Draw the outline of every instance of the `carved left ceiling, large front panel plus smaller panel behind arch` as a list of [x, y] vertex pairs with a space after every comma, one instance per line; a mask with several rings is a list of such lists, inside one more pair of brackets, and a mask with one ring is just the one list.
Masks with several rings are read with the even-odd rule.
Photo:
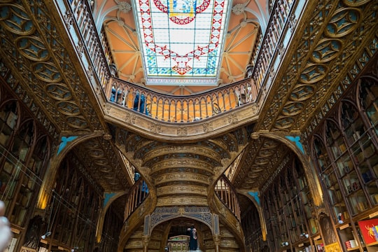
[[102, 190], [130, 188], [123, 160], [102, 137], [109, 130], [88, 85], [83, 85], [87, 80], [83, 80], [72, 45], [50, 19], [48, 6], [41, 1], [6, 1], [0, 8], [2, 76], [57, 145], [62, 141], [59, 137], [86, 138], [74, 151], [87, 161], [87, 174]]

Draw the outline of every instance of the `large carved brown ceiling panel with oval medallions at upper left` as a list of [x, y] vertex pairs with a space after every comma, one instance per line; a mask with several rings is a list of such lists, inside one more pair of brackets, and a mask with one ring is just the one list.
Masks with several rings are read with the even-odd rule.
[[43, 1], [3, 1], [0, 6], [3, 62], [49, 120], [62, 132], [102, 130], [83, 87], [84, 77]]

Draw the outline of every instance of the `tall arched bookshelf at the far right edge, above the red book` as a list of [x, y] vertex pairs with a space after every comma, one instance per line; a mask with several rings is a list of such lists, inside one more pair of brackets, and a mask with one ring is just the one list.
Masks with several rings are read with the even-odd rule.
[[343, 251], [365, 251], [356, 223], [378, 207], [377, 126], [378, 83], [361, 81], [330, 111], [311, 139], [325, 204]]

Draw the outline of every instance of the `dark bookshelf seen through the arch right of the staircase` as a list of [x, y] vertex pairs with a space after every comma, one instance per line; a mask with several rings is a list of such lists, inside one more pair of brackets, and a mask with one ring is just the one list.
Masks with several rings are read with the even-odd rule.
[[[311, 247], [311, 236], [319, 234], [318, 223], [313, 216], [309, 183], [297, 158], [262, 192], [262, 204], [267, 232], [271, 234], [267, 240], [274, 251], [284, 251], [290, 246], [295, 246], [295, 251], [306, 251]], [[283, 246], [283, 242], [288, 245]]]

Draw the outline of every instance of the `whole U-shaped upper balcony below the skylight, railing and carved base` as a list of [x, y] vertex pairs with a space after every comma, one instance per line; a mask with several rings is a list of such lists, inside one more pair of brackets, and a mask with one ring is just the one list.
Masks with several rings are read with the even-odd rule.
[[[190, 95], [163, 94], [117, 78], [109, 47], [97, 31], [90, 3], [71, 0], [55, 4], [108, 120], [167, 139], [177, 135], [196, 139], [202, 134], [228, 130], [228, 125], [235, 127], [258, 118], [293, 35], [295, 24], [290, 16], [299, 17], [304, 8], [300, 2], [278, 0], [270, 6], [265, 35], [261, 35], [260, 29], [244, 79]], [[238, 6], [232, 9], [238, 10], [245, 11]], [[204, 124], [204, 130], [191, 128], [190, 125], [198, 123]], [[172, 131], [174, 128], [176, 131]]]

